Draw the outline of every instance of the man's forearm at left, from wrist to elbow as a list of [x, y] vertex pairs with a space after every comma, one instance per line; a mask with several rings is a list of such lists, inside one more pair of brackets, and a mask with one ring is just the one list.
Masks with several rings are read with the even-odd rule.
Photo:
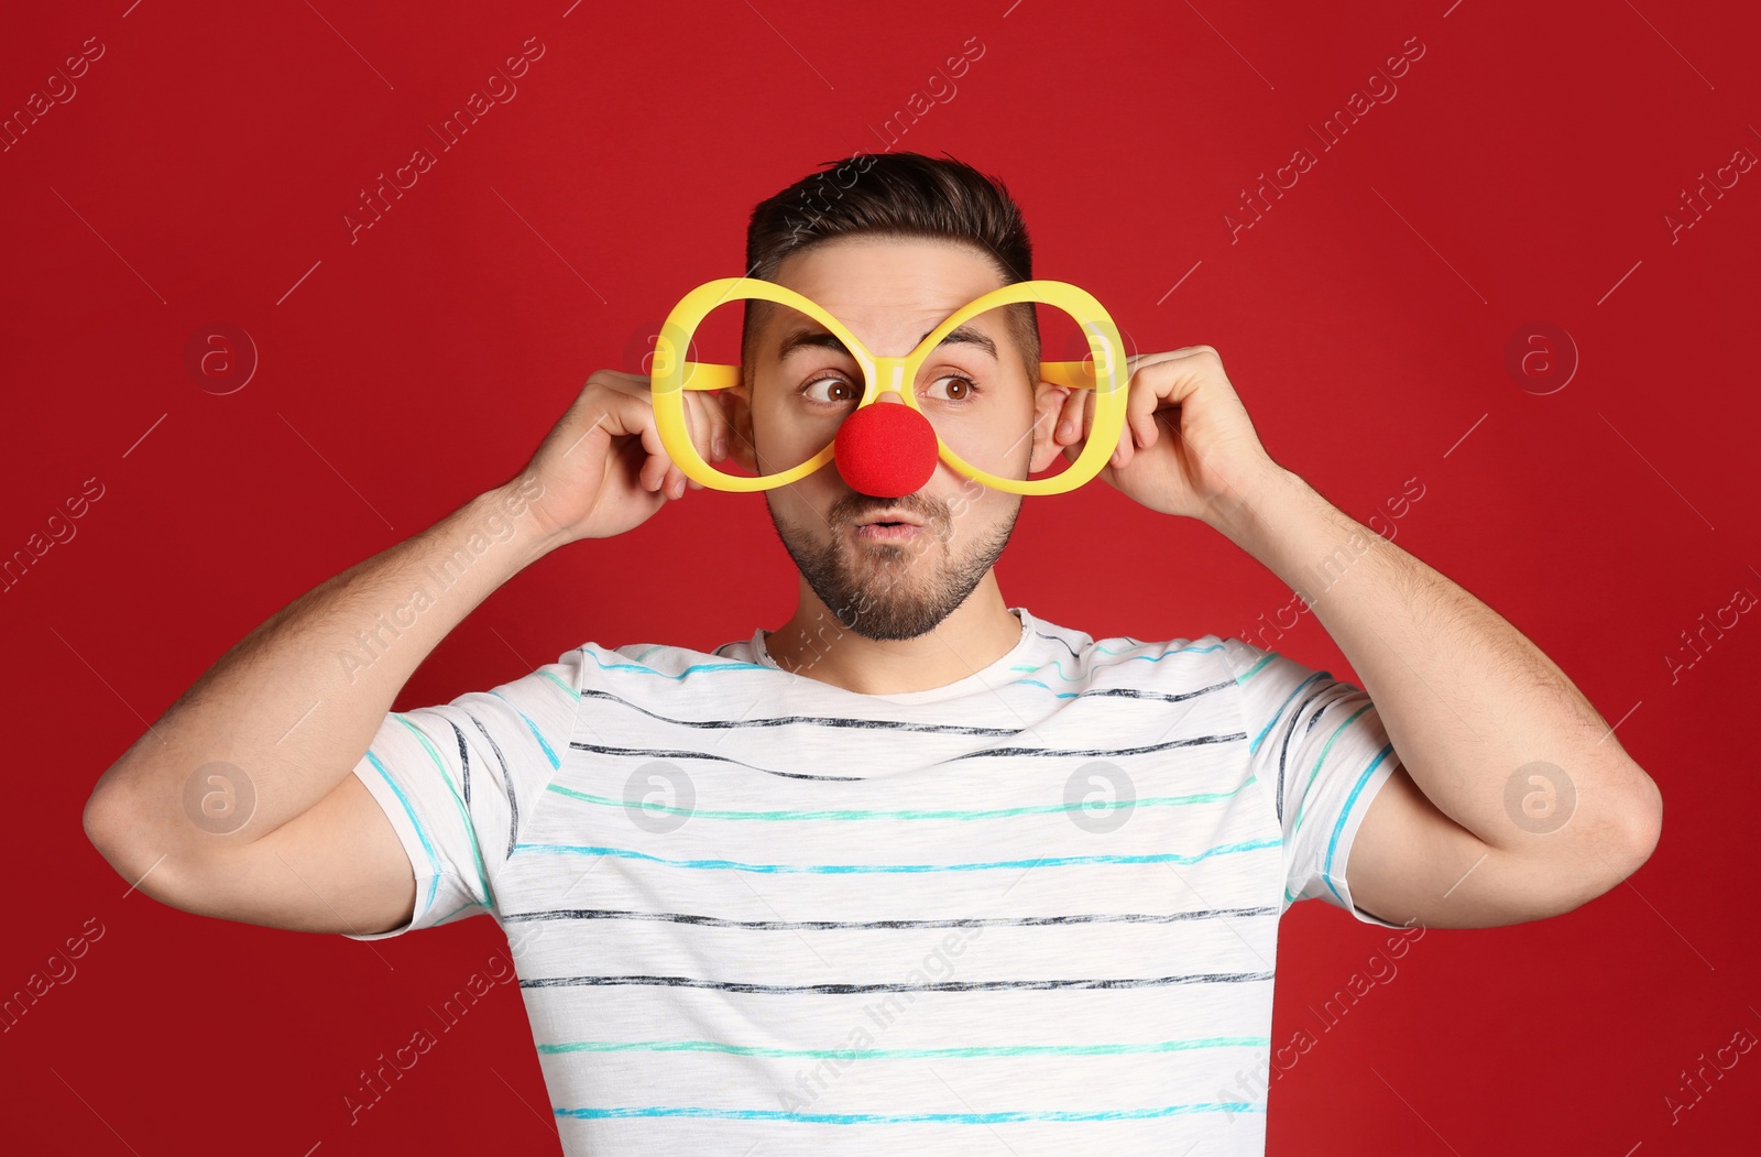
[[185, 785], [215, 761], [248, 777], [255, 796], [234, 847], [313, 807], [435, 645], [548, 549], [535, 491], [514, 479], [276, 611], [104, 773], [88, 815], [107, 812], [155, 849], [195, 849]]

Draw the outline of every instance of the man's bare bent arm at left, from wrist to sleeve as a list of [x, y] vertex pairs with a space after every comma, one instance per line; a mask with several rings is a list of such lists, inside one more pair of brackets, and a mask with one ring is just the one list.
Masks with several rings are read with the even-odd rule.
[[[528, 497], [516, 479], [474, 498], [306, 592], [210, 667], [86, 801], [86, 835], [116, 872], [203, 916], [349, 933], [407, 923], [409, 856], [352, 770], [435, 645], [549, 549]], [[435, 586], [426, 576], [458, 572], [454, 556], [472, 562], [412, 611], [412, 592]]]

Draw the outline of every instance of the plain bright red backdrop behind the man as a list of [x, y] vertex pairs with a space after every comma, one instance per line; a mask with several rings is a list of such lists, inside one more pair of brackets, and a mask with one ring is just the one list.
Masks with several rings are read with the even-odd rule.
[[[361, 1124], [343, 1111], [359, 1069], [505, 951], [493, 921], [370, 947], [187, 916], [123, 895], [81, 807], [269, 613], [511, 475], [592, 370], [636, 370], [683, 289], [741, 271], [755, 201], [880, 150], [873, 129], [970, 37], [983, 56], [896, 148], [1000, 174], [1037, 275], [1092, 291], [1138, 349], [1215, 345], [1271, 454], [1344, 511], [1368, 521], [1418, 479], [1423, 498], [1377, 528], [1551, 655], [1664, 792], [1629, 884], [1550, 921], [1432, 930], [1331, 1030], [1308, 1006], [1386, 933], [1294, 909], [1273, 1043], [1319, 1044], [1273, 1083], [1270, 1152], [1752, 1152], [1761, 1051], [1680, 1124], [1664, 1106], [1701, 1051], [1761, 1035], [1754, 905], [1733, 903], [1752, 891], [1736, 849], [1761, 625], [1675, 682], [1664, 659], [1701, 613], [1761, 593], [1738, 345], [1761, 298], [1761, 171], [1675, 238], [1664, 222], [1684, 185], [1761, 150], [1747, 5], [125, 9], [35, 5], [0, 37], [5, 109], [104, 44], [0, 153], [0, 551], [104, 486], [0, 595], [0, 988], [83, 921], [104, 928], [0, 1035], [19, 1152], [555, 1152], [507, 984]], [[350, 243], [361, 187], [528, 37], [544, 55], [518, 97]], [[1425, 53], [1398, 95], [1321, 151], [1308, 127], [1409, 37]], [[1303, 144], [1317, 164], [1231, 240], [1243, 185]], [[185, 370], [217, 321], [259, 352], [229, 394]], [[1536, 321], [1574, 338], [1560, 389], [1564, 365], [1529, 387], [1506, 368]], [[398, 706], [588, 639], [708, 648], [778, 627], [794, 571], [761, 502], [703, 491], [544, 558]], [[1247, 636], [1291, 599], [1219, 534], [1102, 483], [1028, 500], [998, 578], [1097, 637]], [[1277, 646], [1349, 674], [1308, 615]]]

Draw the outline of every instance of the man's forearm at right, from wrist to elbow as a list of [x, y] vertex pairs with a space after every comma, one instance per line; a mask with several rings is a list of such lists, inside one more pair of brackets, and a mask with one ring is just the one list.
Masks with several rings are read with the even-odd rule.
[[1314, 609], [1375, 703], [1412, 782], [1490, 847], [1529, 829], [1506, 807], [1522, 768], [1560, 768], [1587, 859], [1655, 815], [1657, 787], [1541, 648], [1485, 602], [1359, 525], [1280, 467], [1212, 525]]

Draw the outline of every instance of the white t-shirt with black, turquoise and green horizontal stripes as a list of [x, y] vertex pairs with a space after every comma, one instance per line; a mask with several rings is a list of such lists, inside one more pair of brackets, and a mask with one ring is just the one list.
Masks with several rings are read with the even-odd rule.
[[387, 715], [356, 775], [417, 896], [380, 935], [500, 921], [572, 1153], [1263, 1153], [1278, 916], [1396, 926], [1345, 884], [1375, 706], [1011, 611], [933, 690], [755, 630]]

